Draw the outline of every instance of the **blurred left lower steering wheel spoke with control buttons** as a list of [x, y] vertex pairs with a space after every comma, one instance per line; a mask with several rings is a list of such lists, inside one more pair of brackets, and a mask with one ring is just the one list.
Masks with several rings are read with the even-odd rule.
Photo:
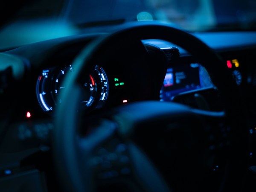
[[115, 122], [102, 119], [89, 134], [79, 137], [79, 161], [84, 179], [90, 177], [93, 182], [92, 190], [168, 192], [148, 157], [117, 129]]

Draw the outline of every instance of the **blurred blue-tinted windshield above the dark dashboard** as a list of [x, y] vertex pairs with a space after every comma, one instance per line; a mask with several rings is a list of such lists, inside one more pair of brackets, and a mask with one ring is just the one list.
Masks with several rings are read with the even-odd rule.
[[0, 49], [143, 20], [166, 21], [191, 32], [254, 30], [256, 0], [29, 1], [2, 26]]

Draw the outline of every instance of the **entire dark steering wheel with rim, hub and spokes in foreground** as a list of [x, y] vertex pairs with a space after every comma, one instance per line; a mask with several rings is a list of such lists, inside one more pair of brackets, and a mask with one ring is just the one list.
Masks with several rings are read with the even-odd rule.
[[[104, 52], [110, 46], [127, 39], [162, 39], [186, 49], [207, 69], [221, 94], [224, 111], [203, 111], [155, 99], [117, 106], [90, 118], [82, 116], [77, 111], [81, 79], [97, 58], [108, 56]], [[166, 23], [126, 23], [88, 44], [73, 64], [77, 70], [64, 80], [67, 88], [62, 93], [63, 100], [69, 102], [57, 108], [52, 137], [56, 170], [64, 190], [242, 189], [247, 122], [239, 90], [224, 61], [198, 38]], [[82, 127], [81, 122], [93, 123]], [[81, 134], [86, 126], [93, 127], [92, 131]]]

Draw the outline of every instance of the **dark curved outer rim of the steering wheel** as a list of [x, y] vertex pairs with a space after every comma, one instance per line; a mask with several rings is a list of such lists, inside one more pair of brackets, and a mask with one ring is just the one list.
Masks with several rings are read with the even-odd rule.
[[[195, 36], [180, 29], [173, 28], [166, 23], [160, 22], [126, 23], [125, 25], [114, 29], [112, 33], [97, 38], [90, 45], [85, 47], [73, 62], [73, 64], [75, 64], [77, 67], [76, 72], [72, 73], [70, 76], [67, 76], [64, 81], [64, 83], [67, 84], [67, 87], [69, 88], [63, 92], [63, 98], [66, 98], [70, 101], [79, 98], [80, 91], [76, 84], [78, 84], [79, 79], [84, 76], [84, 73], [82, 72], [89, 71], [89, 68], [91, 67], [90, 63], [93, 63], [93, 59], [100, 52], [102, 52], [102, 49], [108, 47], [108, 44], [110, 44], [113, 39], [122, 39], [124, 37], [132, 37], [140, 40], [162, 39], [172, 42], [173, 44], [176, 44], [183, 49], [186, 49], [189, 53], [194, 55], [198, 59], [198, 62], [207, 69], [213, 84], [215, 84], [215, 86], [220, 91], [223, 101], [226, 104], [224, 106], [226, 119], [228, 119], [229, 122], [231, 122], [230, 119], [233, 118], [238, 120], [238, 122], [236, 121], [236, 127], [244, 125], [245, 118], [241, 116], [242, 105], [239, 95], [233, 95], [234, 91], [239, 93], [238, 87], [236, 86], [236, 82], [232, 78], [231, 74], [227, 72], [224, 61], [222, 61], [222, 59], [215, 52], [213, 52], [212, 49], [210, 49], [206, 44], [204, 44]], [[210, 60], [207, 58], [210, 58]], [[71, 92], [72, 94], [70, 94]], [[237, 105], [237, 111], [231, 110], [231, 106], [234, 105]], [[79, 152], [74, 146], [74, 143], [77, 142], [77, 128], [79, 127], [77, 123], [77, 115], [74, 113], [76, 109], [76, 102], [69, 102], [69, 104], [64, 104], [57, 108], [55, 121], [56, 127], [53, 132], [53, 146], [55, 151], [54, 157], [55, 162], [63, 160], [64, 165], [67, 166], [65, 168], [67, 170], [63, 170], [63, 166], [61, 166], [63, 171], [61, 175], [65, 175], [62, 177], [62, 181], [67, 182], [67, 180], [70, 180], [70, 182], [67, 182], [68, 184], [65, 187], [70, 187], [71, 190], [75, 188], [76, 191], [86, 191], [84, 188], [86, 184], [81, 185], [81, 183], [87, 183], [87, 185], [90, 186], [89, 183], [93, 182], [91, 180], [92, 178], [81, 178], [79, 175], [77, 175], [77, 173], [80, 172], [79, 166], [72, 165], [72, 162], [80, 162], [76, 159], [76, 153]], [[68, 113], [67, 111], [73, 111], [73, 113]], [[201, 111], [201, 113], [204, 112]], [[220, 115], [220, 113], [218, 115]], [[244, 130], [239, 129], [239, 131]], [[60, 172], [61, 168], [59, 166], [57, 167], [58, 172]], [[71, 174], [73, 178], [70, 179], [70, 177], [67, 176], [67, 173]], [[84, 178], [86, 178], [87, 181], [84, 181]], [[93, 188], [90, 187], [89, 189], [93, 190]]]

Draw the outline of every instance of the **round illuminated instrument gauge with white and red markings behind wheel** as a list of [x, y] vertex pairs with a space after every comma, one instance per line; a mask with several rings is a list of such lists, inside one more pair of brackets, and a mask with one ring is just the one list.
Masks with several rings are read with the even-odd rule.
[[[64, 78], [68, 73], [76, 70], [76, 66], [69, 65], [67, 67], [55, 70], [44, 70], [42, 76], [38, 78], [38, 101], [44, 111], [51, 111], [56, 105], [65, 102], [61, 98], [61, 92], [67, 88], [63, 84]], [[51, 78], [49, 78], [51, 73]], [[95, 101], [96, 107], [101, 107], [108, 97], [108, 79], [101, 67], [95, 67], [87, 78], [82, 82], [83, 96], [79, 108], [89, 108]]]

